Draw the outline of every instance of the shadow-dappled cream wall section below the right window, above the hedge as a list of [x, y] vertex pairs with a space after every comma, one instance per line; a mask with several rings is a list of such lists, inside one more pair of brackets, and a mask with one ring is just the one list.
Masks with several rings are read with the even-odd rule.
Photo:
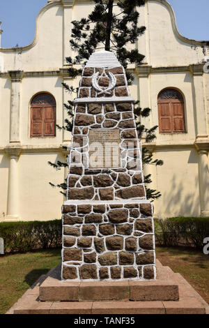
[[157, 150], [154, 158], [164, 161], [153, 171], [162, 197], [155, 200], [155, 217], [199, 216], [199, 156], [194, 148]]

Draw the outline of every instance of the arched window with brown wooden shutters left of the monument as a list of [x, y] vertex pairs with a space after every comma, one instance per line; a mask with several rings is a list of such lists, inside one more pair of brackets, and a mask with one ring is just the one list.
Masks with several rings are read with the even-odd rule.
[[50, 94], [38, 94], [31, 101], [31, 137], [56, 136], [56, 101]]

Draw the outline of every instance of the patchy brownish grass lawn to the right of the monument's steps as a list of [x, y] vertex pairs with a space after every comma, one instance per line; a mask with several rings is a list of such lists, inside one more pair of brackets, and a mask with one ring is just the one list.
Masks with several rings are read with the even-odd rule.
[[156, 248], [157, 259], [181, 274], [209, 304], [209, 255], [188, 248]]

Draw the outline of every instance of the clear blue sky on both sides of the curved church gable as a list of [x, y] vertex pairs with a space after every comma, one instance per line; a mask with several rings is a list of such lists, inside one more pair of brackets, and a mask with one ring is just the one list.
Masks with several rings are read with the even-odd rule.
[[[169, 3], [183, 36], [209, 40], [208, 0], [169, 0]], [[1, 47], [29, 45], [35, 35], [36, 17], [46, 4], [47, 0], [0, 0]]]

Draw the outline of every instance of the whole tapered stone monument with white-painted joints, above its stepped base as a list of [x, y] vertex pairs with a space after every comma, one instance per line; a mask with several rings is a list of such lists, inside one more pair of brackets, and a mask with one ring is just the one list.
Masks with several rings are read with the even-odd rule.
[[156, 278], [153, 206], [146, 200], [133, 111], [114, 53], [92, 54], [75, 100], [62, 209], [63, 280]]

